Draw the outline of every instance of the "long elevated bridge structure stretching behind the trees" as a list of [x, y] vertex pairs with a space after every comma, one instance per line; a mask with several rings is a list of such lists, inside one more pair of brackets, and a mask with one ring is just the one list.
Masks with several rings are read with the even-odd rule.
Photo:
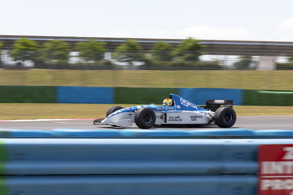
[[[50, 37], [50, 36], [22, 36], [22, 35], [0, 35], [0, 42], [4, 44], [6, 50], [11, 50], [12, 44], [17, 39], [27, 38], [38, 44], [43, 44], [48, 40], [58, 39], [74, 45], [77, 42], [88, 41], [90, 39], [99, 40], [107, 43], [107, 49], [111, 52], [125, 42], [126, 40], [134, 40], [142, 50], [147, 52], [152, 46], [163, 41], [176, 47], [185, 39], [140, 39], [140, 38], [106, 38], [106, 37]], [[235, 56], [293, 56], [293, 42], [276, 42], [276, 41], [229, 41], [229, 40], [199, 40], [205, 45], [202, 50], [207, 55], [235, 55]]]

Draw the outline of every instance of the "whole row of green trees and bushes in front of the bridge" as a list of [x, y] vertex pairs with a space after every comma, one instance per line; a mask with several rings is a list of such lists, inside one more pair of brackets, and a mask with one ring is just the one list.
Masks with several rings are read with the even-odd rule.
[[[158, 41], [147, 53], [142, 52], [142, 46], [134, 40], [125, 40], [114, 49], [110, 58], [105, 58], [108, 51], [106, 44], [94, 39], [77, 42], [74, 46], [58, 39], [38, 44], [33, 40], [20, 38], [12, 45], [10, 55], [15, 61], [34, 61], [35, 68], [115, 69], [118, 67], [113, 63], [115, 61], [128, 66], [141, 62], [142, 69], [224, 69], [218, 59], [200, 61], [199, 57], [205, 54], [202, 51], [205, 46], [191, 37], [183, 40], [176, 48], [167, 42]], [[0, 49], [2, 47], [3, 43], [0, 42]], [[69, 64], [72, 51], [78, 52], [79, 62], [76, 64]], [[289, 61], [292, 62], [293, 58], [289, 58]], [[240, 70], [251, 69], [252, 56], [241, 56], [240, 61], [233, 66]]]

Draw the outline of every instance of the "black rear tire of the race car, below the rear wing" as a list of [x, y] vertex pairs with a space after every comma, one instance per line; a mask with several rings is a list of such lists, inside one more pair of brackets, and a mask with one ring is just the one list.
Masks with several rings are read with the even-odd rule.
[[236, 113], [230, 107], [220, 107], [215, 111], [214, 120], [219, 127], [229, 128], [236, 122]]

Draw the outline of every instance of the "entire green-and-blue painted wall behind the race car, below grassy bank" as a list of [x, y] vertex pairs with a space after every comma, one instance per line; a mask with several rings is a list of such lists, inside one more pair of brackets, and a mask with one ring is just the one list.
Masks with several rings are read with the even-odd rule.
[[[52, 87], [0, 86], [2, 103], [97, 103], [97, 104], [159, 104], [168, 94], [177, 94], [197, 105], [207, 99], [233, 100], [234, 105], [290, 106], [293, 91], [263, 91], [217, 88], [131, 88], [131, 87]], [[15, 89], [18, 90], [15, 90]], [[33, 93], [29, 93], [33, 90]], [[19, 91], [23, 91], [20, 96]], [[178, 92], [178, 93], [177, 93]], [[45, 94], [45, 95], [44, 95]], [[25, 97], [25, 100], [23, 100]], [[159, 99], [158, 99], [159, 97]], [[161, 98], [160, 98], [161, 97]], [[273, 101], [272, 101], [273, 99]]]

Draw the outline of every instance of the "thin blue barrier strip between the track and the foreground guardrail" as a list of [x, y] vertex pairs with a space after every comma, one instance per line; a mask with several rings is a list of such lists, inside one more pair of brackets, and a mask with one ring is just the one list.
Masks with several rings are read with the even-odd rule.
[[179, 139], [293, 139], [293, 130], [250, 130], [250, 129], [52, 129], [21, 130], [0, 129], [0, 138], [179, 138]]

